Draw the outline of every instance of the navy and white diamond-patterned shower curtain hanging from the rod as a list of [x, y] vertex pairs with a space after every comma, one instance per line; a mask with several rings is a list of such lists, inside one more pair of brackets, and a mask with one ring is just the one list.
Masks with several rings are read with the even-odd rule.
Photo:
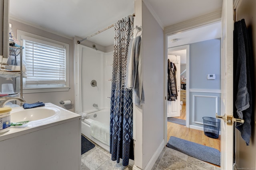
[[126, 64], [133, 17], [116, 22], [110, 104], [110, 153], [112, 160], [127, 166], [133, 158], [132, 90], [125, 88]]

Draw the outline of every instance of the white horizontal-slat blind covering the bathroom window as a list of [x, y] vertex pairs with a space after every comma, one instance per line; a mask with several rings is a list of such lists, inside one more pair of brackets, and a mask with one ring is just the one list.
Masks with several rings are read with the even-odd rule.
[[66, 86], [65, 47], [48, 44], [23, 39], [27, 70], [25, 89]]

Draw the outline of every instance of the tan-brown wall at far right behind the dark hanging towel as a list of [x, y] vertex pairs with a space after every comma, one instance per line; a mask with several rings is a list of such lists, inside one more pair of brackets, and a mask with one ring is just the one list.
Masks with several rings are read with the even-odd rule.
[[[242, 20], [243, 18], [245, 19], [246, 26], [249, 30], [249, 37], [252, 39], [252, 49], [253, 49], [253, 54], [254, 54], [254, 67], [256, 66], [256, 11], [255, 11], [255, 6], [256, 6], [256, 1], [255, 0], [240, 0], [238, 3], [238, 6], [236, 8], [236, 20]], [[256, 75], [256, 71], [254, 68], [254, 75]], [[251, 80], [254, 84], [254, 80]], [[253, 96], [256, 95], [256, 91], [253, 90], [254, 94]], [[254, 97], [255, 98], [255, 97]], [[246, 146], [246, 143], [244, 140], [242, 140], [240, 132], [236, 130], [236, 146], [237, 146], [237, 151], [236, 151], [236, 164], [237, 167], [240, 169], [255, 169], [256, 164], [256, 126], [255, 126], [255, 117], [256, 117], [256, 101], [254, 100], [254, 110], [252, 112], [252, 136], [250, 140], [250, 145]]]

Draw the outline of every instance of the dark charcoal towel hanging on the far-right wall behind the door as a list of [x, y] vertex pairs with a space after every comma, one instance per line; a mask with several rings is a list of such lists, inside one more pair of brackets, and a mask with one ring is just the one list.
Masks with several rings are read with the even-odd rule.
[[250, 143], [252, 116], [252, 51], [244, 19], [234, 23], [234, 117], [244, 119], [236, 123], [246, 145]]

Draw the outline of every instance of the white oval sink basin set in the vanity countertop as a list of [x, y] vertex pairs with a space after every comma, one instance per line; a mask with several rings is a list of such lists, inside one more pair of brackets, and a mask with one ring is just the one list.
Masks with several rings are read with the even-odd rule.
[[21, 109], [17, 111], [11, 111], [11, 122], [20, 121], [36, 121], [52, 117], [59, 112], [55, 108], [32, 108], [32, 109]]

